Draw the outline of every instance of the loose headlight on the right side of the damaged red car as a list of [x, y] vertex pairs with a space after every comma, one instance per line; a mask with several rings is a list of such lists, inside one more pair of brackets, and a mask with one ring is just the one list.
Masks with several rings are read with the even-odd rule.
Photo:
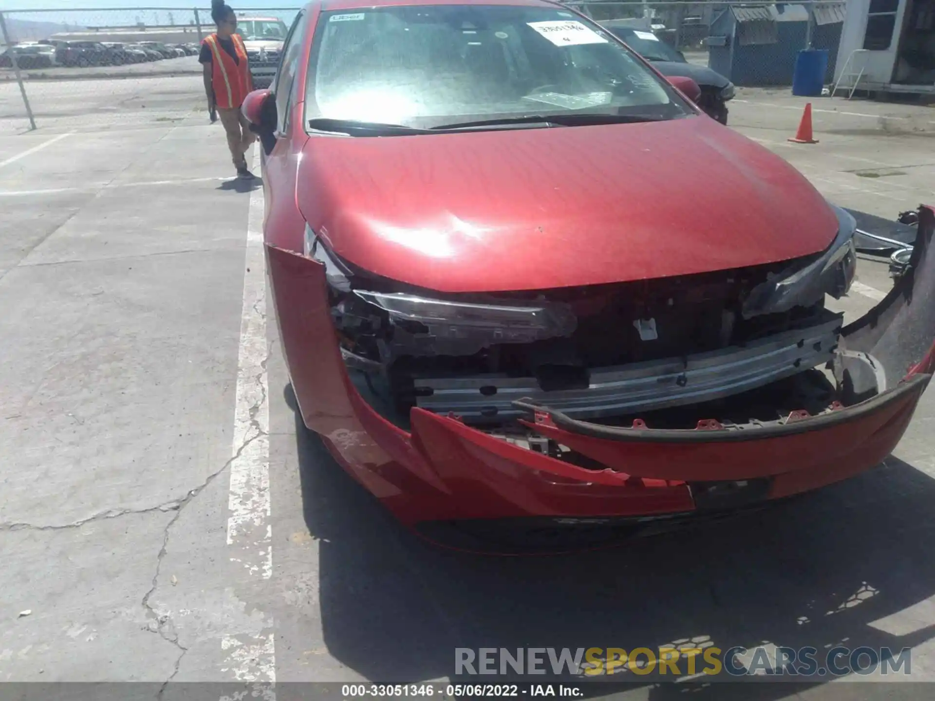
[[826, 293], [839, 298], [850, 289], [857, 265], [857, 223], [841, 207], [831, 207], [838, 217], [838, 235], [831, 245], [811, 263], [791, 265], [751, 290], [741, 310], [745, 319], [808, 307]]

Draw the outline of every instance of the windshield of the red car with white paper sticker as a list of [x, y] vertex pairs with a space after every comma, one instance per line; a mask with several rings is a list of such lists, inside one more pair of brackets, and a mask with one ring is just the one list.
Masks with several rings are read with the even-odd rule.
[[552, 7], [324, 12], [311, 62], [306, 116], [319, 123], [427, 129], [533, 116], [639, 121], [691, 113], [600, 27]]

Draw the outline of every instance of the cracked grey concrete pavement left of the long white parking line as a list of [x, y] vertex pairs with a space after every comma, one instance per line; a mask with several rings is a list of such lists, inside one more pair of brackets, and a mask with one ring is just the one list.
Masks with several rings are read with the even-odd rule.
[[[0, 680], [148, 680], [161, 696], [186, 670], [217, 679], [222, 638], [266, 620], [230, 588], [218, 479], [259, 436], [232, 451], [247, 200], [218, 192], [209, 126], [61, 143], [0, 170], [7, 192], [100, 183], [0, 215], [20, 229], [0, 236], [0, 583], [33, 610], [0, 624]], [[202, 551], [180, 563], [192, 538]], [[71, 577], [27, 565], [47, 557]]]

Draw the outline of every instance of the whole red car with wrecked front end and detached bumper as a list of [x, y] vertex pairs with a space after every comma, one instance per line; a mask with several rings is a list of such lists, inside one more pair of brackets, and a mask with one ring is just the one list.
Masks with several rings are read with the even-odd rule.
[[935, 215], [842, 326], [854, 220], [692, 94], [545, 0], [298, 15], [244, 105], [282, 346], [305, 424], [423, 536], [626, 532], [896, 446], [933, 366]]

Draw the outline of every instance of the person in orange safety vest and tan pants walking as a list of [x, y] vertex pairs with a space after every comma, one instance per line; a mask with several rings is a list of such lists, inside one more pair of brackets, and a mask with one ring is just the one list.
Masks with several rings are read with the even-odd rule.
[[214, 121], [214, 110], [221, 118], [227, 133], [227, 146], [240, 178], [253, 178], [247, 167], [246, 152], [255, 136], [250, 122], [240, 113], [247, 94], [253, 89], [250, 75], [250, 59], [243, 37], [237, 34], [237, 15], [223, 0], [211, 0], [211, 19], [218, 31], [201, 42], [198, 61], [203, 65], [205, 93], [208, 108]]

